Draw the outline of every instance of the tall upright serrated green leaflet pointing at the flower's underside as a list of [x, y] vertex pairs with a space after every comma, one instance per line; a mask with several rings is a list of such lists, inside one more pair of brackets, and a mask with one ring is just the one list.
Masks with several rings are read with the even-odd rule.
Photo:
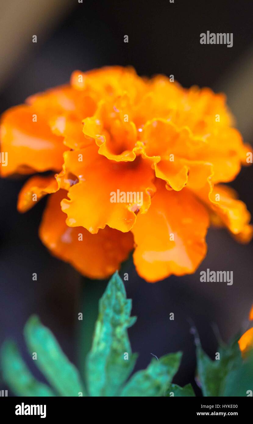
[[126, 298], [124, 284], [116, 272], [99, 301], [92, 349], [87, 355], [90, 396], [116, 396], [133, 370], [137, 356], [132, 354], [127, 332], [136, 321], [130, 316], [131, 307], [132, 301]]

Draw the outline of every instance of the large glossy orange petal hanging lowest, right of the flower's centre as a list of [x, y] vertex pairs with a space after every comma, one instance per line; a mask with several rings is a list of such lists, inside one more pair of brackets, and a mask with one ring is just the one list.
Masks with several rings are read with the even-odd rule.
[[150, 209], [132, 229], [136, 270], [149, 282], [195, 272], [206, 255], [209, 226], [208, 212], [189, 190], [168, 191], [159, 180], [156, 185]]

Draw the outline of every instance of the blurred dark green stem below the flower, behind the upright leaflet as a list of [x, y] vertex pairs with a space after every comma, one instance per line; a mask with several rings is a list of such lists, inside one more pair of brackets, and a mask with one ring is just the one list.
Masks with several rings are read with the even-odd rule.
[[90, 280], [81, 277], [80, 310], [83, 319], [78, 321], [78, 365], [85, 376], [85, 360], [92, 347], [92, 338], [98, 315], [98, 301], [106, 290], [108, 280]]

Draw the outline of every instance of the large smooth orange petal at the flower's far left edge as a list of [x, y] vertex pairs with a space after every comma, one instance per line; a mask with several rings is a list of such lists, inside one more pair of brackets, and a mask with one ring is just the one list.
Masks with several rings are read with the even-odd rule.
[[61, 169], [67, 148], [62, 137], [50, 131], [43, 116], [33, 106], [15, 106], [5, 112], [1, 121], [1, 151], [8, 152], [8, 165], [0, 167], [1, 175], [31, 174], [34, 171]]

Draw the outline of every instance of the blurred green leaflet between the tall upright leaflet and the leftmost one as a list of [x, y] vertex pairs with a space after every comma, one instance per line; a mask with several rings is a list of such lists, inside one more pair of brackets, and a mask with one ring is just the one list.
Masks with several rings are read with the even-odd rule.
[[31, 316], [24, 329], [31, 354], [36, 352], [36, 365], [61, 396], [85, 396], [79, 372], [61, 350], [53, 333], [39, 318]]

